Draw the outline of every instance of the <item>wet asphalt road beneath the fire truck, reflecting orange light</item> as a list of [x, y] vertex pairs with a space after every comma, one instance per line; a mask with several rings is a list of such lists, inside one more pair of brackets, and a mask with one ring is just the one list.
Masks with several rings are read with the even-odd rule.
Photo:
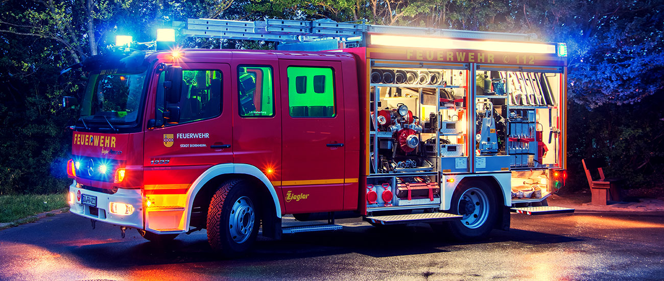
[[[286, 220], [292, 220], [292, 218]], [[0, 231], [2, 280], [663, 280], [664, 213], [512, 215], [513, 229], [458, 243], [428, 225], [260, 238], [247, 256], [210, 252], [205, 231], [172, 244], [70, 213]]]

